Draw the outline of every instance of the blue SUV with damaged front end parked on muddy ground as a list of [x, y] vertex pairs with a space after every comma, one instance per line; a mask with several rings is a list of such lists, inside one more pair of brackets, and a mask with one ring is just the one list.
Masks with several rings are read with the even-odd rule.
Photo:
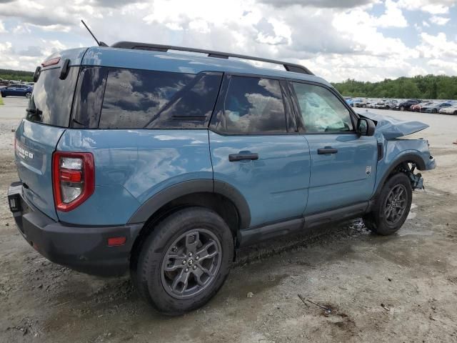
[[393, 234], [415, 169], [435, 166], [426, 140], [398, 139], [425, 124], [356, 114], [296, 64], [120, 42], [54, 54], [34, 79], [8, 193], [19, 231], [52, 262], [130, 271], [165, 314], [208, 302], [238, 247], [354, 217]]

